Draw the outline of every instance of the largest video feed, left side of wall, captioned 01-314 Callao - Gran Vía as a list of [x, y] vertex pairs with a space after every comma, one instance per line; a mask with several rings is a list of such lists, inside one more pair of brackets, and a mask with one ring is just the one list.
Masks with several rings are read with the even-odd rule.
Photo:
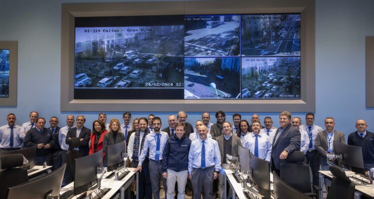
[[183, 88], [184, 26], [75, 28], [75, 88]]

